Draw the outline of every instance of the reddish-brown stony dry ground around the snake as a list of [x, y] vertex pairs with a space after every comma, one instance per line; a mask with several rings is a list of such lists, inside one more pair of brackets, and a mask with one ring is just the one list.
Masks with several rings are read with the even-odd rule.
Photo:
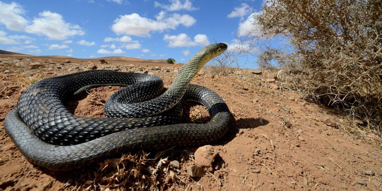
[[[181, 67], [109, 60], [109, 64], [100, 64], [98, 60], [74, 58], [69, 59], [71, 63], [64, 62], [68, 58], [10, 55], [0, 58], [5, 58], [0, 62], [0, 190], [6, 191], [71, 190], [76, 186], [68, 183], [73, 172], [49, 172], [29, 163], [4, 130], [6, 114], [16, 106], [31, 82], [40, 79], [40, 72], [48, 77], [91, 70], [90, 62], [93, 62], [97, 69], [147, 71], [162, 78], [166, 87]], [[40, 65], [33, 66], [34, 62]], [[212, 75], [212, 70], [209, 66], [202, 68], [192, 83], [217, 92], [235, 119], [230, 125], [232, 136], [212, 144], [224, 165], [215, 168], [216, 172], [192, 178], [186, 167], [193, 162], [178, 156], [181, 167], [178, 173], [188, 183], [168, 183], [164, 188], [173, 191], [382, 189], [380, 146], [347, 133], [343, 128], [344, 117], [304, 101], [285, 83], [266, 82], [265, 74], [256, 75], [243, 69], [223, 76]], [[74, 102], [71, 106], [74, 114], [104, 117], [102, 103], [119, 88], [91, 89], [90, 95], [68, 102], [68, 107]], [[208, 121], [208, 113], [201, 106], [192, 107], [189, 113], [191, 117], [201, 113], [204, 122]], [[196, 148], [185, 149], [193, 152]]]

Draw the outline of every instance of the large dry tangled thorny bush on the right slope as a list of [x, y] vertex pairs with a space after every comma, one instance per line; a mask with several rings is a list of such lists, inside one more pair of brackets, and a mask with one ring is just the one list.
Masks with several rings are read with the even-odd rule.
[[311, 100], [382, 131], [382, 1], [270, 0], [254, 14], [254, 39], [289, 39], [265, 48], [261, 66], [288, 68]]

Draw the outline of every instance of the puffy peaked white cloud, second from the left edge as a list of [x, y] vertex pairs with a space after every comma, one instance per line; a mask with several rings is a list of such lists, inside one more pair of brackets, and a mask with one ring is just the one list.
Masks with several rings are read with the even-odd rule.
[[33, 24], [26, 26], [25, 32], [45, 35], [52, 40], [65, 40], [69, 36], [85, 34], [80, 26], [66, 23], [58, 13], [43, 11], [39, 16], [33, 19]]

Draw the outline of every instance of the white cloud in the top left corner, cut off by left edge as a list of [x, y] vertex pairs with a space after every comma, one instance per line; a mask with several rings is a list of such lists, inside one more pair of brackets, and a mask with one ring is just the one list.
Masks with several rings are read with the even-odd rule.
[[10, 4], [0, 2], [0, 23], [5, 28], [12, 31], [23, 31], [28, 24], [28, 20], [23, 16], [25, 11], [20, 4], [12, 2]]

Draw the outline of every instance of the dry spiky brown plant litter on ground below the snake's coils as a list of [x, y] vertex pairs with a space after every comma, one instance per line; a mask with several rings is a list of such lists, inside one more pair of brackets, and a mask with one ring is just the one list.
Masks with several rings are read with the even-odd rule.
[[77, 186], [71, 190], [164, 190], [166, 183], [181, 181], [168, 167], [167, 157], [161, 158], [164, 153], [151, 154], [154, 155], [151, 158], [150, 154], [140, 151], [104, 160], [98, 170], [81, 173], [74, 181]]

